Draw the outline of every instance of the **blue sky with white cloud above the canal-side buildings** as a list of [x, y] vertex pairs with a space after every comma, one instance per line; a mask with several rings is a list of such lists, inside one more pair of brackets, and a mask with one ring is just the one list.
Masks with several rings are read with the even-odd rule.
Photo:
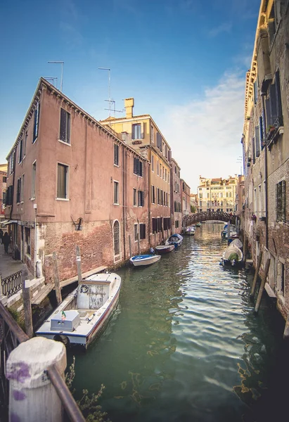
[[[259, 0], [15, 0], [1, 2], [0, 162], [15, 141], [39, 77], [96, 120], [134, 97], [172, 147], [191, 191], [198, 176], [240, 173], [245, 72]], [[116, 113], [116, 116], [122, 115]]]

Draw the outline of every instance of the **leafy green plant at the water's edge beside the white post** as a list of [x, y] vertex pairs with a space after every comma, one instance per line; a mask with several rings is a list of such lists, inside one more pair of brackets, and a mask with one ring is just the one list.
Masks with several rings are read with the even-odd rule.
[[[75, 379], [75, 356], [73, 357], [72, 364], [70, 365], [68, 372], [65, 373], [65, 383], [68, 385], [70, 392], [75, 394], [75, 388], [72, 388], [72, 383]], [[105, 386], [101, 384], [101, 388], [97, 394], [92, 393], [89, 395], [88, 390], [82, 390], [82, 398], [77, 400], [77, 405], [82, 411], [84, 418], [87, 422], [110, 422], [107, 418], [107, 413], [101, 410], [101, 405], [98, 404], [98, 399], [103, 394]]]

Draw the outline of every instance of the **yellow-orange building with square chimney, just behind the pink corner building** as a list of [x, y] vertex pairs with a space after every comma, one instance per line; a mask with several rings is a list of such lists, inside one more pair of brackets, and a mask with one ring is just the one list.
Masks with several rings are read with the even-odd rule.
[[[150, 161], [148, 180], [148, 215], [150, 244], [160, 243], [171, 233], [170, 159], [171, 148], [150, 115], [134, 116], [134, 98], [124, 100], [125, 117], [108, 117], [101, 124], [114, 132]], [[135, 169], [138, 174], [138, 169]], [[146, 200], [146, 198], [145, 198]], [[165, 234], [164, 234], [165, 231]], [[157, 236], [152, 236], [152, 235]]]

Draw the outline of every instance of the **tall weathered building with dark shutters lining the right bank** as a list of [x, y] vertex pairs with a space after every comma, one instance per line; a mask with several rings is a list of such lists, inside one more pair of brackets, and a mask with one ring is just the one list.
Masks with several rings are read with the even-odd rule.
[[261, 1], [252, 62], [246, 75], [242, 227], [265, 288], [289, 310], [289, 2]]

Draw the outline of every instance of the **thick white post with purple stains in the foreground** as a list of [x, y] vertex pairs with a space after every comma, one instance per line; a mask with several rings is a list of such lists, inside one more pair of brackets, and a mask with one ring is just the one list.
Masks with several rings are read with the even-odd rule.
[[9, 421], [61, 422], [63, 405], [46, 370], [55, 364], [61, 376], [66, 368], [63, 343], [34, 337], [12, 350], [6, 363]]

